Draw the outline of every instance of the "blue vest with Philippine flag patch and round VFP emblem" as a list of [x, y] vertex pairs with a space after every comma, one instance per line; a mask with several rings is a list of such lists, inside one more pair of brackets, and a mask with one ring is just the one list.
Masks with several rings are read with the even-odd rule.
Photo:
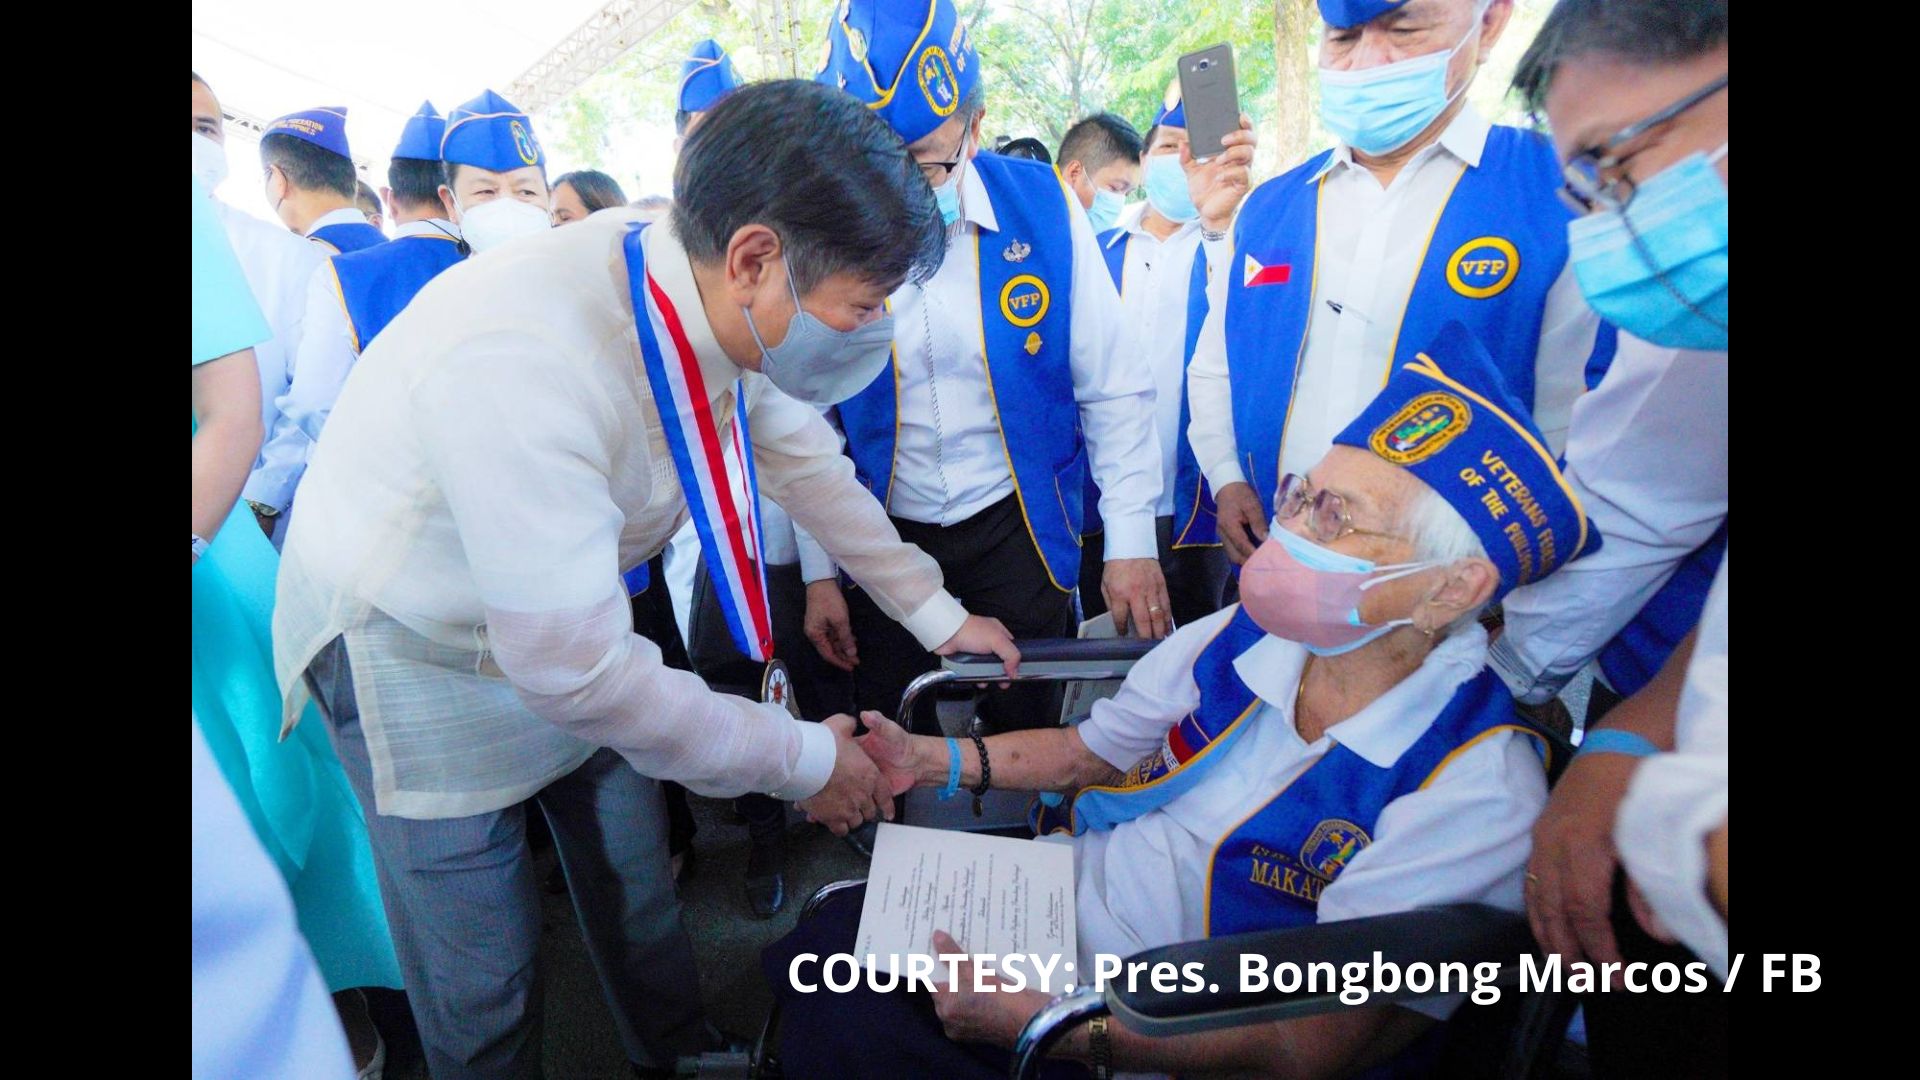
[[[1235, 225], [1235, 265], [1225, 267], [1233, 434], [1267, 515], [1308, 325], [1321, 304], [1315, 254], [1327, 181], [1317, 175], [1331, 156], [1325, 150], [1246, 198]], [[1382, 379], [1457, 319], [1486, 344], [1507, 390], [1534, 402], [1540, 321], [1567, 265], [1572, 217], [1553, 194], [1559, 186], [1559, 161], [1546, 138], [1515, 127], [1488, 131], [1480, 163], [1461, 169], [1432, 225]], [[1611, 334], [1603, 338], [1611, 346]]]

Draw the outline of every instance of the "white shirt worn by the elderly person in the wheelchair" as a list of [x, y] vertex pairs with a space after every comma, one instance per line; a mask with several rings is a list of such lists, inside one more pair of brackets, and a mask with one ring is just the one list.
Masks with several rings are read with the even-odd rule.
[[[1194, 657], [1236, 611], [1181, 626], [1140, 659], [1081, 724], [1087, 749], [1116, 769], [1158, 753], [1167, 728], [1200, 701]], [[1208, 869], [1221, 838], [1336, 742], [1382, 769], [1398, 761], [1486, 665], [1486, 630], [1455, 630], [1413, 675], [1311, 744], [1294, 728], [1306, 657], [1298, 644], [1275, 636], [1240, 653], [1233, 667], [1261, 705], [1231, 753], [1171, 803], [1110, 832], [1073, 838], [1081, 970], [1092, 970], [1094, 953], [1131, 955], [1206, 938]], [[1463, 901], [1521, 911], [1530, 830], [1546, 799], [1546, 771], [1528, 736], [1500, 732], [1467, 746], [1438, 778], [1380, 811], [1373, 844], [1321, 894], [1319, 920]], [[1436, 999], [1432, 1015], [1444, 1017], [1455, 1003], [1457, 995]]]

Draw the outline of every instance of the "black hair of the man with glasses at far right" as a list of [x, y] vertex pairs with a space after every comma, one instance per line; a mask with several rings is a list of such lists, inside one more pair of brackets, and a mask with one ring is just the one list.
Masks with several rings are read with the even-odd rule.
[[1726, 44], [1726, 0], [1559, 0], [1513, 71], [1513, 88], [1540, 115], [1561, 63], [1611, 56], [1676, 63]]

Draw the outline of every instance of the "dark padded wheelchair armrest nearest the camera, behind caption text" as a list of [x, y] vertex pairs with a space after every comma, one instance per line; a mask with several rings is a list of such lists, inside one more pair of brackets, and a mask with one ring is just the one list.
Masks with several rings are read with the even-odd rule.
[[[1208, 1032], [1342, 1009], [1340, 986], [1329, 986], [1327, 978], [1308, 978], [1311, 972], [1308, 965], [1313, 963], [1334, 965], [1338, 980], [1342, 965], [1365, 963], [1371, 969], [1373, 953], [1380, 953], [1382, 965], [1398, 967], [1400, 990], [1369, 994], [1367, 1003], [1388, 1005], [1434, 995], [1432, 988], [1421, 994], [1407, 990], [1407, 965], [1425, 963], [1438, 974], [1440, 965], [1461, 963], [1467, 965], [1471, 976], [1475, 965], [1498, 963], [1500, 982], [1505, 986], [1519, 978], [1521, 955], [1532, 951], [1534, 936], [1524, 915], [1484, 903], [1452, 903], [1146, 949], [1127, 957], [1127, 963], [1171, 963], [1175, 969], [1200, 963], [1204, 965], [1204, 982], [1210, 988], [1217, 986], [1217, 990], [1158, 992], [1146, 978], [1129, 988], [1121, 976], [1108, 982], [1106, 1001], [1116, 1017], [1146, 1036]], [[1265, 959], [1265, 974], [1269, 976], [1265, 990], [1240, 988], [1242, 955]], [[1294, 990], [1279, 990], [1271, 978], [1283, 963], [1298, 965], [1302, 972], [1300, 986]], [[1371, 970], [1367, 986], [1371, 988]], [[1459, 980], [1448, 984], [1448, 990], [1459, 988]]]

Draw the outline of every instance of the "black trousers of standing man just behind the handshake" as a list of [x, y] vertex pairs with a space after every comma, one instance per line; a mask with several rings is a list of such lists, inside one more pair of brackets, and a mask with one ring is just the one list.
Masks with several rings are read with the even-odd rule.
[[[895, 517], [893, 527], [900, 530], [900, 540], [918, 544], [922, 552], [933, 555], [947, 575], [947, 592], [954, 594], [970, 613], [1006, 623], [1016, 638], [1073, 636], [1073, 594], [1062, 592], [1048, 578], [1046, 563], [1033, 548], [1016, 496], [1006, 496], [960, 525], [925, 525]], [[847, 609], [860, 648], [860, 665], [852, 673], [854, 701], [862, 709], [893, 717], [906, 684], [939, 667], [939, 657], [920, 648], [904, 626], [881, 613], [866, 590], [847, 590]], [[931, 698], [924, 698], [924, 707], [916, 711], [916, 723], [895, 719], [912, 730], [939, 730]], [[1016, 686], [985, 698], [979, 715], [991, 730], [1050, 726], [1060, 721], [1060, 688]]]

